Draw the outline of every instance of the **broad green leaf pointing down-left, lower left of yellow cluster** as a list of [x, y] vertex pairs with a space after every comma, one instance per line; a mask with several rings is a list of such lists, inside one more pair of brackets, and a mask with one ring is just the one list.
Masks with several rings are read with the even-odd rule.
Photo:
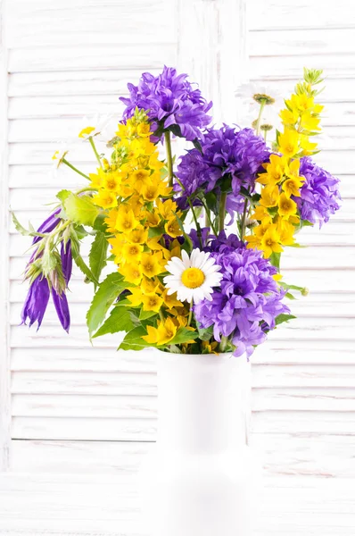
[[123, 281], [123, 276], [119, 272], [110, 273], [99, 284], [99, 288], [96, 290], [93, 301], [87, 311], [87, 328], [90, 337], [103, 322], [114, 300], [120, 295], [122, 290], [127, 288], [128, 284], [126, 281]]

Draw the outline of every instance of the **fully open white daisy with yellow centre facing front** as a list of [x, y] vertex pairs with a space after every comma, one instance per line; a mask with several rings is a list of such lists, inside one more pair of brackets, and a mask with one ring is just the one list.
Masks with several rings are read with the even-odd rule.
[[202, 299], [211, 301], [213, 287], [219, 285], [222, 274], [220, 266], [210, 257], [210, 253], [194, 249], [189, 257], [186, 251], [181, 253], [182, 259], [172, 257], [167, 264], [171, 275], [164, 277], [168, 294], [177, 292], [180, 301], [200, 302]]

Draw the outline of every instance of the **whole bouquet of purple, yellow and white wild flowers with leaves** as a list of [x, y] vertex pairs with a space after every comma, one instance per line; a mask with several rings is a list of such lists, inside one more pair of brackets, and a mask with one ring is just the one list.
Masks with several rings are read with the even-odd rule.
[[[79, 134], [95, 152], [93, 173], [75, 168], [67, 152], [54, 155], [87, 180], [85, 187], [60, 191], [37, 231], [14, 218], [33, 237], [22, 322], [39, 327], [52, 295], [69, 330], [74, 260], [95, 287], [90, 337], [126, 331], [123, 349], [250, 356], [268, 331], [294, 318], [285, 299], [302, 289], [281, 281], [284, 248], [297, 247], [303, 226], [327, 222], [339, 208], [338, 180], [311, 158], [323, 109], [315, 101], [320, 76], [304, 71], [272, 147], [262, 122], [274, 102], [266, 93], [253, 95], [260, 105], [254, 129], [214, 129], [211, 103], [185, 74], [164, 67], [129, 84], [110, 157], [98, 154], [93, 126]], [[175, 169], [171, 135], [193, 144]], [[88, 264], [80, 255], [85, 237], [93, 238]], [[107, 263], [111, 272], [101, 281]]]

